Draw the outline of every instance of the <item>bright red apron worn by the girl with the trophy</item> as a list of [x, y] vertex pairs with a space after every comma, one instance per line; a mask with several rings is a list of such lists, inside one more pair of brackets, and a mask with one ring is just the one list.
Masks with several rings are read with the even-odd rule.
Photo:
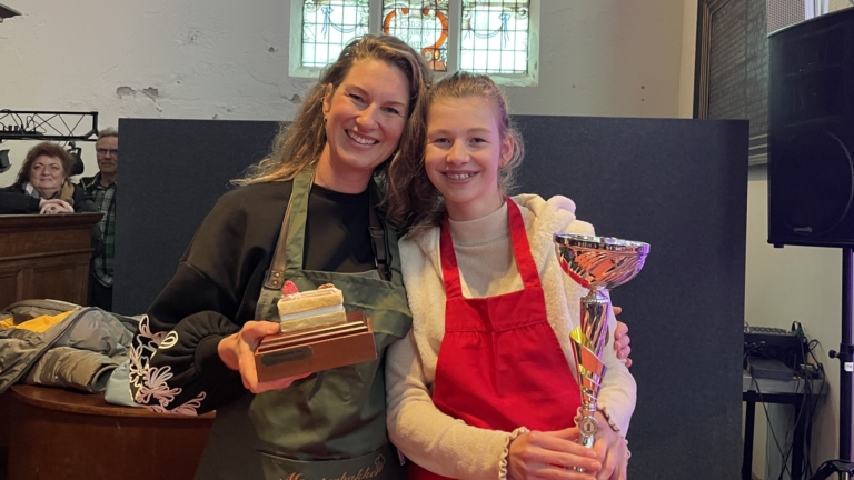
[[[447, 218], [443, 224], [439, 248], [447, 302], [433, 402], [474, 427], [507, 432], [522, 426], [565, 429], [575, 424], [580, 390], [548, 323], [525, 222], [510, 199], [507, 214], [524, 288], [496, 297], [463, 297]], [[409, 466], [408, 477], [445, 478], [416, 464]]]

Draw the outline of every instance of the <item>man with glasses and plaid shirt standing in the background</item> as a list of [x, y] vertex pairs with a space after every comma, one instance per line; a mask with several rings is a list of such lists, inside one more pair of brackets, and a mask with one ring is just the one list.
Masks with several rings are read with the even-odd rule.
[[119, 159], [119, 131], [115, 128], [106, 128], [98, 132], [98, 141], [95, 143], [95, 153], [98, 159], [98, 173], [95, 177], [80, 179], [89, 199], [95, 202], [95, 208], [103, 212], [100, 227], [103, 232], [103, 251], [92, 258], [89, 268], [89, 299], [90, 307], [100, 307], [112, 311], [112, 259], [116, 238], [116, 173]]

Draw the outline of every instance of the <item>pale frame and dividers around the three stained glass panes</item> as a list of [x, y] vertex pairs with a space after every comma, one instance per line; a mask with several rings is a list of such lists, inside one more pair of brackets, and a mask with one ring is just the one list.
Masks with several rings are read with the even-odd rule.
[[[489, 73], [496, 83], [510, 87], [533, 87], [539, 83], [539, 3], [528, 0], [528, 68], [526, 73]], [[290, 2], [290, 41], [288, 46], [288, 74], [296, 78], [318, 78], [321, 67], [302, 66], [302, 0]], [[448, 19], [448, 71], [434, 71], [439, 80], [459, 70], [460, 16], [463, 0], [448, 0], [448, 8], [455, 14]], [[368, 32], [379, 34], [383, 24], [383, 0], [369, 0]]]

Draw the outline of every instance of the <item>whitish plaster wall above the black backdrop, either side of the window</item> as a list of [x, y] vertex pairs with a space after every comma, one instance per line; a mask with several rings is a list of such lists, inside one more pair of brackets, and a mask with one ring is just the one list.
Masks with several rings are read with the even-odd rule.
[[[100, 127], [120, 117], [288, 120], [311, 84], [288, 77], [289, 1], [3, 3], [23, 16], [0, 23], [0, 109], [97, 110]], [[678, 114], [683, 0], [542, 0], [540, 19], [540, 82], [508, 88], [514, 113]], [[1, 148], [20, 164], [31, 146]], [[82, 147], [93, 174], [93, 147]]]

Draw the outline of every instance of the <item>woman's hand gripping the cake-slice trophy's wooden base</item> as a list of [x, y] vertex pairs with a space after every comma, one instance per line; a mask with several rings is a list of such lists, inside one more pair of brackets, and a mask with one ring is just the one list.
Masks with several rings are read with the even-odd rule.
[[240, 377], [244, 379], [244, 387], [252, 393], [284, 389], [290, 387], [294, 381], [311, 374], [286, 377], [268, 382], [258, 381], [258, 371], [255, 369], [255, 349], [258, 348], [262, 338], [276, 334], [279, 331], [280, 327], [276, 322], [248, 321], [239, 332], [224, 338], [217, 347], [222, 362], [231, 370], [240, 372]]

